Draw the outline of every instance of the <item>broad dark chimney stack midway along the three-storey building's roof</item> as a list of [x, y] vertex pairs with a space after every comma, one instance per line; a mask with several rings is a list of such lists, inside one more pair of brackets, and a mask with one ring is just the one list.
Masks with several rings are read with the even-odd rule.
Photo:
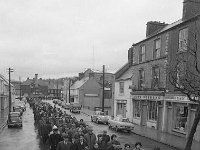
[[149, 21], [147, 22], [147, 28], [146, 28], [146, 37], [155, 33], [156, 31], [164, 28], [167, 24], [166, 23], [161, 23], [157, 21]]

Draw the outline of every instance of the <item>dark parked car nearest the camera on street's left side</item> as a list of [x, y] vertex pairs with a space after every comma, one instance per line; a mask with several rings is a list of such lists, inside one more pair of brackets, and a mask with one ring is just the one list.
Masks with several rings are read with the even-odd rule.
[[10, 112], [7, 120], [8, 128], [10, 127], [22, 127], [22, 116], [20, 112]]

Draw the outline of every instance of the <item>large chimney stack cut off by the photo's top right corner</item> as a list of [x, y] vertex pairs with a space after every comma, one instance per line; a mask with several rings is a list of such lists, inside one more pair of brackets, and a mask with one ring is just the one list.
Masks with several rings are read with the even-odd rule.
[[200, 0], [184, 0], [182, 20], [188, 20], [200, 14]]

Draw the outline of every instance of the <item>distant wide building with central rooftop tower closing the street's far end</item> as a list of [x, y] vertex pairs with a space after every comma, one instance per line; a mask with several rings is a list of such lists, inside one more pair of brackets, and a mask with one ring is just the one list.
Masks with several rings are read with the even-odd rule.
[[23, 96], [45, 97], [48, 96], [48, 84], [42, 78], [38, 79], [38, 74], [35, 74], [35, 78], [27, 78], [21, 84], [21, 91]]

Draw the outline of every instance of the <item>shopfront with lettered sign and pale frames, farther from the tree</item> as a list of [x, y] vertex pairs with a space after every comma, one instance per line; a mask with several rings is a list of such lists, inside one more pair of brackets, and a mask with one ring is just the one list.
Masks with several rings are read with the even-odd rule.
[[161, 95], [132, 95], [133, 123], [161, 130], [163, 98]]

